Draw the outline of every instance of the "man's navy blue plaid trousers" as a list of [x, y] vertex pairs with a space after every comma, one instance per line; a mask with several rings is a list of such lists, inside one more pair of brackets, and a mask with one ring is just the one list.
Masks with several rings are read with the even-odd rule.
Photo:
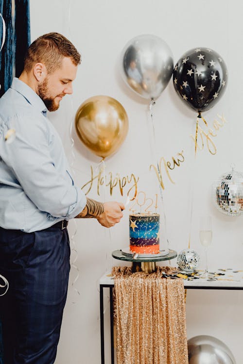
[[0, 297], [4, 364], [52, 364], [69, 279], [67, 229], [39, 232], [0, 228], [0, 274], [9, 290]]

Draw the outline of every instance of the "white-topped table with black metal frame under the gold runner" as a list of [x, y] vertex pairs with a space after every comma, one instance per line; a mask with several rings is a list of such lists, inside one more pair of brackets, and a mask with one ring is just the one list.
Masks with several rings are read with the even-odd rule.
[[[225, 274], [218, 276], [215, 281], [198, 278], [189, 281], [184, 279], [185, 289], [227, 289], [243, 290], [243, 270], [216, 269], [213, 272]], [[111, 364], [114, 364], [114, 332], [113, 332], [113, 288], [114, 280], [109, 274], [100, 278], [100, 327], [101, 327], [101, 364], [104, 364], [104, 288], [109, 288], [110, 295], [110, 338]]]

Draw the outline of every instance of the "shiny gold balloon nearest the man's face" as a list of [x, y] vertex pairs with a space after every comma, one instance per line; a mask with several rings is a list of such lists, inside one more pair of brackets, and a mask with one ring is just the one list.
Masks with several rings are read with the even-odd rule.
[[75, 128], [84, 145], [99, 157], [116, 152], [128, 132], [123, 106], [109, 96], [93, 96], [79, 107]]

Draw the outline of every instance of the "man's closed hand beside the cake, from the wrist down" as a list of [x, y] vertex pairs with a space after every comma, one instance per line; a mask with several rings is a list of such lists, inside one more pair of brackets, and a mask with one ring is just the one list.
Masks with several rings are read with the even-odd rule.
[[123, 216], [122, 210], [125, 210], [125, 206], [120, 202], [104, 202], [104, 212], [97, 217], [97, 220], [102, 226], [110, 228], [118, 222], [120, 222]]

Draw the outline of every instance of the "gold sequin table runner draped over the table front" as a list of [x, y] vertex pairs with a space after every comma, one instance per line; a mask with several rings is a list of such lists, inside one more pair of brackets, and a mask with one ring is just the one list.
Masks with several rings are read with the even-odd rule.
[[[170, 274], [174, 268], [163, 267]], [[188, 364], [183, 280], [113, 267], [117, 364]]]

